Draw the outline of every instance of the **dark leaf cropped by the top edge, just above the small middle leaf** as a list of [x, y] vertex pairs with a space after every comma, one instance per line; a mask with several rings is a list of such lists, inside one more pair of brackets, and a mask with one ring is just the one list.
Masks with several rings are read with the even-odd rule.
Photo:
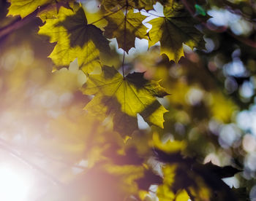
[[107, 10], [120, 9], [121, 7], [132, 7], [135, 9], [153, 9], [156, 0], [103, 0], [102, 5]]

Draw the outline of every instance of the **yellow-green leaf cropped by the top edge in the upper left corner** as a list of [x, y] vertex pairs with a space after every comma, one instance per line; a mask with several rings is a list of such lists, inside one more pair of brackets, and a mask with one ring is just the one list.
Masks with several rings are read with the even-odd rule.
[[20, 17], [23, 18], [31, 14], [31, 12], [34, 12], [38, 7], [50, 4], [52, 1], [53, 0], [9, 0], [11, 5], [8, 15], [20, 15]]

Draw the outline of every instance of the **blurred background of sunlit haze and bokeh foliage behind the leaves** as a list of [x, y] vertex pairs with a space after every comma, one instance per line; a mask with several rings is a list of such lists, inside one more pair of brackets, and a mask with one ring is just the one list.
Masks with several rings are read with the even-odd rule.
[[[148, 127], [142, 117], [138, 125], [143, 132], [159, 133], [163, 142], [184, 141], [184, 153], [200, 162], [244, 170], [225, 182], [244, 187], [256, 200], [256, 3], [195, 2], [195, 15], [208, 16], [197, 27], [205, 34], [206, 50], [184, 45], [185, 58], [176, 64], [159, 55], [159, 44], [148, 50], [147, 40], [136, 39], [126, 55], [126, 73], [146, 71], [146, 79], [161, 79], [170, 93], [159, 99], [169, 110], [165, 129]], [[100, 13], [99, 1], [81, 3], [88, 16]], [[6, 17], [9, 5], [0, 1], [0, 177], [18, 179], [18, 187], [0, 179], [0, 194], [6, 201], [37, 200], [59, 180], [72, 181], [100, 159], [105, 138], [120, 137], [108, 121], [95, 127], [83, 111], [91, 97], [80, 92], [86, 76], [77, 60], [52, 71], [48, 55], [54, 44], [37, 35], [39, 18], [3, 33], [19, 20]], [[154, 9], [162, 15], [161, 4]], [[152, 17], [144, 21], [148, 28]], [[110, 46], [114, 56], [105, 63], [118, 68], [123, 51], [115, 39]], [[17, 193], [8, 192], [8, 185]], [[18, 191], [20, 186], [24, 189]]]

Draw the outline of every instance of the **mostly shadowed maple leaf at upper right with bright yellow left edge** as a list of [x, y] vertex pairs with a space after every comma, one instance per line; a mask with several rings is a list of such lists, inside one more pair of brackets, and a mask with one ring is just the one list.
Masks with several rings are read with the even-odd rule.
[[152, 25], [148, 32], [148, 47], [160, 42], [161, 54], [176, 63], [184, 56], [183, 44], [192, 49], [204, 48], [203, 33], [195, 28], [196, 21], [182, 4], [173, 2], [172, 7], [164, 7], [164, 15], [148, 22]]

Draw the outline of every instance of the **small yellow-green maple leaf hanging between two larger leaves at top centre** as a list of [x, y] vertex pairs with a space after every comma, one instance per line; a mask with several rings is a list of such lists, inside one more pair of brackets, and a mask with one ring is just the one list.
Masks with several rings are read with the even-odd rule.
[[126, 52], [132, 47], [135, 47], [135, 37], [139, 39], [147, 39], [147, 28], [142, 24], [146, 16], [141, 15], [140, 12], [133, 13], [132, 10], [124, 15], [124, 12], [119, 10], [113, 15], [106, 17], [108, 25], [105, 27], [104, 35], [107, 38], [116, 38], [118, 47]]

